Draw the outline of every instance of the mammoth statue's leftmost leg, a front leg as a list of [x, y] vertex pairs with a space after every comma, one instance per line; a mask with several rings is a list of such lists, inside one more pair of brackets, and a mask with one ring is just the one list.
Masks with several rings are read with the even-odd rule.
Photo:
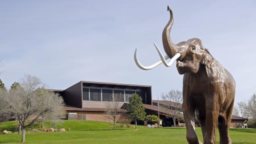
[[195, 108], [192, 104], [192, 101], [188, 102], [186, 94], [183, 92], [183, 104], [182, 104], [182, 110], [185, 118], [185, 123], [186, 123], [186, 138], [189, 144], [202, 144], [198, 140], [198, 137], [196, 135], [196, 129], [195, 129]]

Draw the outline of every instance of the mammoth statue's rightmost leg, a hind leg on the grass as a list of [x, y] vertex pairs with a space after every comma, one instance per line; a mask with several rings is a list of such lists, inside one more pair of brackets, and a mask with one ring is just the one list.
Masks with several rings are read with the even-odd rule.
[[226, 111], [226, 116], [219, 116], [218, 129], [220, 133], [220, 144], [231, 144], [231, 139], [228, 134], [231, 121], [231, 114], [234, 105], [234, 100]]

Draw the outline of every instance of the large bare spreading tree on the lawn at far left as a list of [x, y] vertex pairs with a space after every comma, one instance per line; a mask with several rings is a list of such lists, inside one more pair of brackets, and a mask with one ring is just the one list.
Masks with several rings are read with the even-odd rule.
[[0, 92], [3, 100], [0, 113], [18, 120], [22, 128], [21, 142], [25, 142], [26, 128], [40, 117], [59, 119], [65, 115], [62, 97], [42, 86], [39, 78], [26, 75], [22, 79], [21, 86], [8, 92]]

